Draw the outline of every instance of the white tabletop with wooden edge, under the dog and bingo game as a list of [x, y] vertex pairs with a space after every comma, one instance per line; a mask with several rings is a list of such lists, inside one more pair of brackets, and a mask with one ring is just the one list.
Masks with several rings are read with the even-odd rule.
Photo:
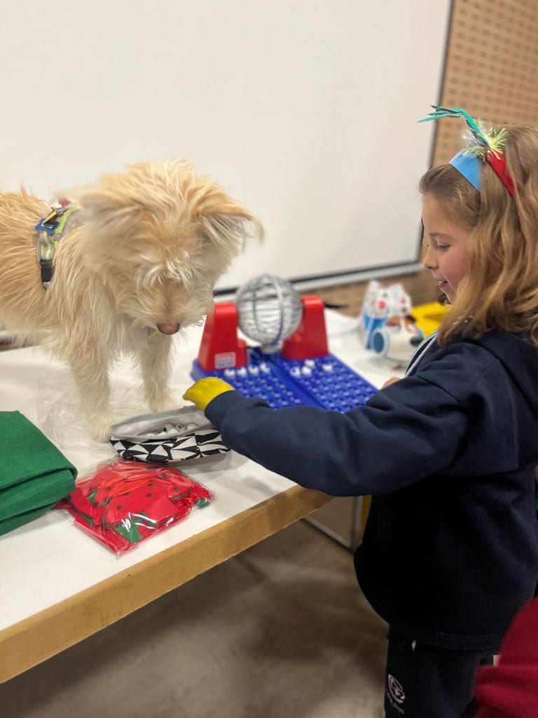
[[[395, 373], [362, 348], [357, 320], [326, 312], [329, 347], [364, 378], [381, 386]], [[192, 383], [201, 328], [178, 342], [173, 373], [177, 396]], [[41, 348], [0, 353], [0, 410], [21, 411], [52, 436], [80, 472], [115, 457], [107, 444], [86, 438], [67, 368]], [[130, 364], [113, 374], [113, 386], [131, 411], [136, 377]], [[126, 392], [128, 392], [126, 394]], [[65, 415], [59, 410], [65, 409]], [[124, 406], [125, 409], [125, 406]], [[48, 415], [47, 415], [48, 412]], [[70, 421], [75, 420], [75, 425]], [[63, 422], [63, 424], [62, 424]], [[59, 436], [58, 434], [64, 434]], [[198, 574], [303, 518], [330, 500], [265, 470], [235, 452], [184, 468], [214, 492], [204, 510], [119, 558], [52, 510], [0, 537], [0, 682], [31, 668], [155, 600]]]

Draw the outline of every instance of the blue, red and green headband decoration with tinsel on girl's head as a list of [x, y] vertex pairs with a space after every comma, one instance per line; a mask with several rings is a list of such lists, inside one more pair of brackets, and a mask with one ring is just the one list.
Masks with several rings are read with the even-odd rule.
[[514, 180], [510, 177], [506, 157], [502, 153], [502, 147], [508, 135], [506, 129], [504, 127], [486, 129], [481, 122], [477, 122], [461, 108], [450, 109], [438, 105], [432, 105], [432, 107], [434, 111], [419, 122], [438, 120], [441, 117], [457, 117], [466, 124], [467, 145], [450, 160], [450, 164], [463, 174], [463, 177], [471, 182], [476, 190], [480, 191], [481, 162], [487, 162], [506, 190], [514, 197], [516, 191]]

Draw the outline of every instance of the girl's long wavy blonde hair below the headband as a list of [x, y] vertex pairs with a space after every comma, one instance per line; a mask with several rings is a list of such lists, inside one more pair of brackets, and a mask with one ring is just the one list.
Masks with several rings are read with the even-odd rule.
[[470, 271], [461, 280], [438, 340], [478, 338], [492, 329], [529, 334], [538, 346], [538, 131], [508, 130], [504, 154], [516, 185], [515, 200], [487, 162], [478, 192], [451, 164], [420, 180], [447, 218], [471, 230]]

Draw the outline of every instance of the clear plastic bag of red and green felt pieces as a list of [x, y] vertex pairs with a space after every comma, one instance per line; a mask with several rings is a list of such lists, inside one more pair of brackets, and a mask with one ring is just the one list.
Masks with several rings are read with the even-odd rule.
[[202, 484], [175, 467], [113, 460], [77, 478], [75, 491], [55, 508], [65, 508], [80, 528], [115, 554], [204, 508], [214, 499]]

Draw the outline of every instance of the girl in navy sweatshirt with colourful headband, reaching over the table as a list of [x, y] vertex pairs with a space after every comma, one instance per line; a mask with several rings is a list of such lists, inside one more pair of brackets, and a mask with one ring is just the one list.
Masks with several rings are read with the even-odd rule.
[[372, 494], [354, 562], [390, 624], [387, 717], [472, 716], [478, 666], [538, 579], [538, 133], [440, 116], [470, 132], [420, 182], [424, 265], [453, 307], [405, 378], [346, 414], [273, 411], [216, 378], [184, 395], [268, 469]]

